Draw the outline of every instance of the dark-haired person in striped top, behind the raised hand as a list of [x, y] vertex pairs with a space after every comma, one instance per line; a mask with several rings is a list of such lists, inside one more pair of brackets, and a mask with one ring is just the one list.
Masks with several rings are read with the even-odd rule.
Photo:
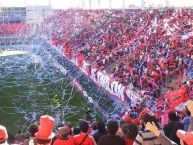
[[155, 145], [161, 144], [157, 136], [152, 132], [145, 129], [145, 124], [147, 122], [154, 122], [159, 128], [158, 122], [153, 114], [146, 113], [143, 115], [142, 119], [142, 131], [140, 131], [133, 143], [133, 145]]

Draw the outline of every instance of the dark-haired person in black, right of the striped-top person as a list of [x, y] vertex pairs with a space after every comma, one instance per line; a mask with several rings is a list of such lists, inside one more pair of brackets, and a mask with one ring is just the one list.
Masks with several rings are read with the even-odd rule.
[[176, 132], [178, 129], [184, 130], [184, 126], [181, 122], [179, 122], [175, 112], [170, 111], [168, 113], [168, 118], [169, 118], [169, 123], [163, 128], [164, 133], [173, 142], [180, 144], [180, 139], [177, 137]]

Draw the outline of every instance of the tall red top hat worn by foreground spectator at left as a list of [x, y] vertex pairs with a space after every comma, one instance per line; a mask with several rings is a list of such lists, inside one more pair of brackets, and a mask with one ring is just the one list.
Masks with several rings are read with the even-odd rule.
[[49, 140], [52, 139], [55, 134], [52, 132], [55, 125], [55, 120], [49, 115], [43, 115], [40, 117], [39, 131], [35, 134], [35, 138]]

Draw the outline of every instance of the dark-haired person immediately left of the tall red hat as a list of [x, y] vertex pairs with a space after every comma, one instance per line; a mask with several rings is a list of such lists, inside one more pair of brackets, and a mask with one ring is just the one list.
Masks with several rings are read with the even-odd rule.
[[32, 123], [29, 126], [30, 137], [29, 137], [29, 139], [24, 140], [22, 145], [34, 145], [34, 144], [36, 144], [35, 134], [37, 132], [38, 132], [38, 125], [36, 123]]

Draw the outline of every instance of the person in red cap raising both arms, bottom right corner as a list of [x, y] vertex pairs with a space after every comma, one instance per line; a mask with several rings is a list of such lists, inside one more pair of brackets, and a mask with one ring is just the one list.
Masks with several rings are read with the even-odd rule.
[[[187, 107], [188, 110], [191, 112], [191, 117], [190, 117], [190, 125], [188, 128], [188, 131], [183, 131], [183, 130], [178, 130], [177, 131], [177, 136], [181, 139], [180, 144], [181, 145], [193, 145], [193, 101], [188, 101], [187, 102]], [[169, 138], [167, 138], [164, 134], [162, 134], [156, 125], [152, 122], [148, 122], [146, 124], [146, 129], [154, 133], [161, 144], [163, 145], [177, 145], [177, 143], [171, 141]]]

